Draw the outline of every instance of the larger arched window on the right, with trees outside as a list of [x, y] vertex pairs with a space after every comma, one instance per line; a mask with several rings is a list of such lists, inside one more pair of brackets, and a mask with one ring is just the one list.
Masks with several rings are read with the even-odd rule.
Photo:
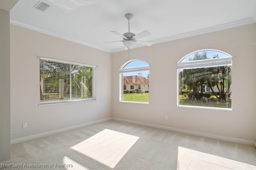
[[178, 106], [232, 109], [232, 56], [200, 50], [183, 57], [178, 66]]

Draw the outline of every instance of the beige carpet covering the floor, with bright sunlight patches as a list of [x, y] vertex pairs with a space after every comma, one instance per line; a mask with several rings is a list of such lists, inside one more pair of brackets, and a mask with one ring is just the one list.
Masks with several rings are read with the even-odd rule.
[[256, 170], [256, 149], [106, 121], [16, 143], [12, 161], [4, 170]]

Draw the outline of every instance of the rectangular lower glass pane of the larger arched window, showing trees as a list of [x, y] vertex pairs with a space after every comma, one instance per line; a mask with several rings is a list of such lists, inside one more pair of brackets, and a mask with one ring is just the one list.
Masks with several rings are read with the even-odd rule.
[[180, 105], [232, 108], [231, 100], [231, 65], [179, 69]]

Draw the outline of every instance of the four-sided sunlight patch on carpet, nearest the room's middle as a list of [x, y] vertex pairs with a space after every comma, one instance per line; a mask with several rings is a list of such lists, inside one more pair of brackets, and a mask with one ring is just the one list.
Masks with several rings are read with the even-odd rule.
[[104, 129], [71, 149], [114, 168], [138, 139], [133, 135]]

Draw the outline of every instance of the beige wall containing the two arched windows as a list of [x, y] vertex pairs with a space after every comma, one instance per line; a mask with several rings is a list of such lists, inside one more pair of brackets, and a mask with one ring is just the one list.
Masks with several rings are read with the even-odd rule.
[[[188, 37], [112, 54], [113, 117], [178, 129], [256, 141], [255, 24]], [[176, 63], [188, 53], [217, 49], [232, 55], [233, 111], [177, 107]], [[150, 65], [150, 104], [119, 102], [122, 64], [140, 59]], [[165, 81], [168, 87], [159, 88]], [[125, 109], [124, 109], [125, 108]], [[168, 115], [168, 120], [165, 120]]]

